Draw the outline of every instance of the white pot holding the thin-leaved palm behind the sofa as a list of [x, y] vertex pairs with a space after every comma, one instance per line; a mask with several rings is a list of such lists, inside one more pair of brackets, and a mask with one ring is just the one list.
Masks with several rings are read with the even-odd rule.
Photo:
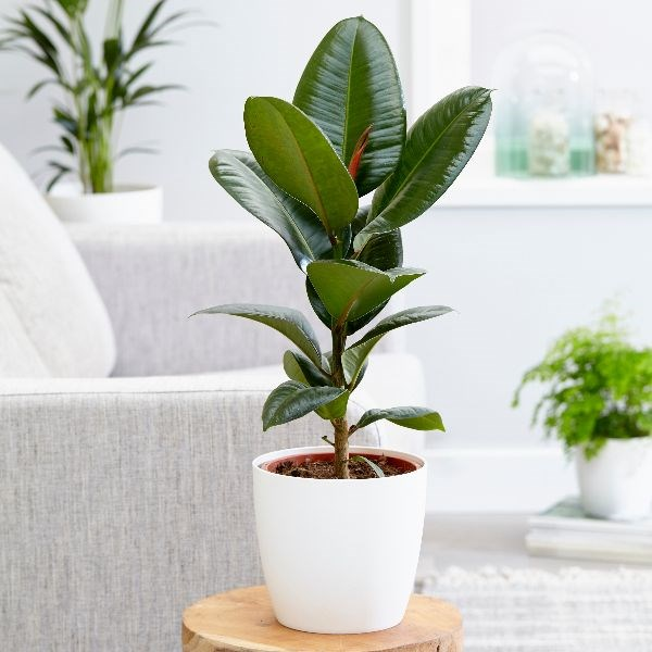
[[114, 192], [84, 195], [61, 184], [46, 196], [62, 222], [91, 224], [154, 224], [163, 220], [163, 190], [159, 186], [116, 186]]

